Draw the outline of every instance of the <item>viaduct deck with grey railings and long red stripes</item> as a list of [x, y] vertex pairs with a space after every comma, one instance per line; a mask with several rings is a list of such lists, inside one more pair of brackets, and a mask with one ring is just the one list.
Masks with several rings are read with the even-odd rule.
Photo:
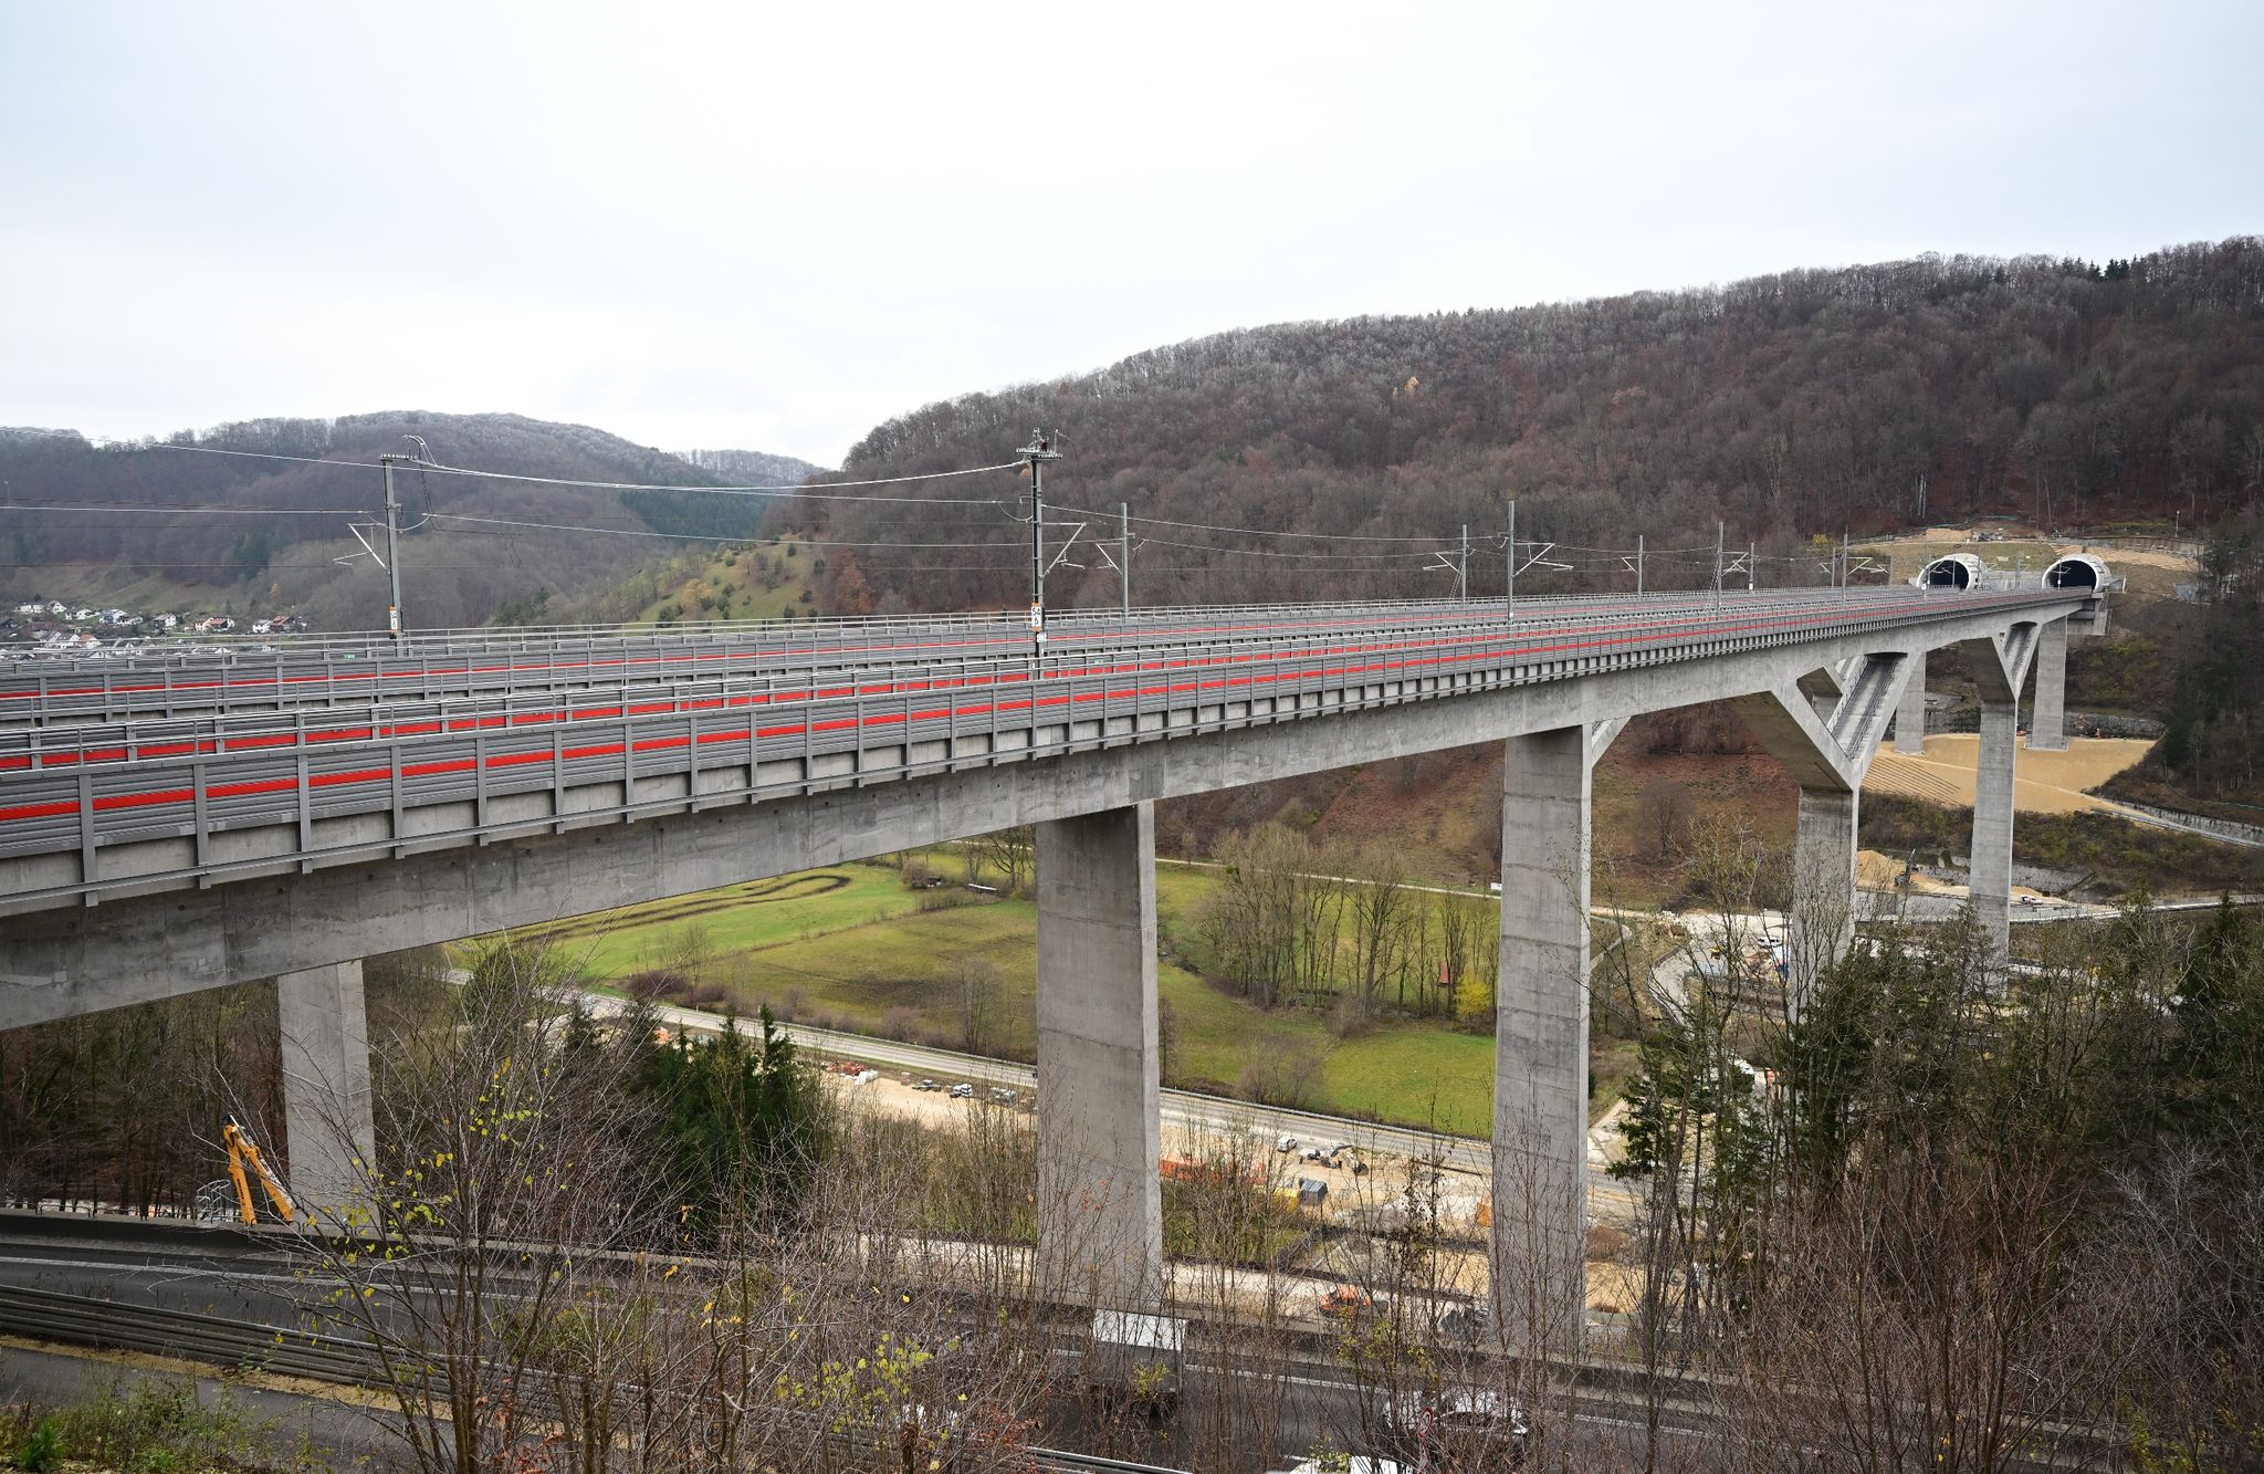
[[[0, 910], [2035, 609], [1915, 589], [331, 641], [14, 670]], [[1730, 693], [1723, 693], [1730, 695]]]

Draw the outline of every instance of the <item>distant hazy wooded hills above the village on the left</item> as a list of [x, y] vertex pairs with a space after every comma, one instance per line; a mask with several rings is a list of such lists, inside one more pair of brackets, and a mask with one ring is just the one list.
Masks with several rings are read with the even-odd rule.
[[[88, 444], [70, 432], [0, 430], [0, 595], [226, 614], [306, 614], [317, 629], [385, 623], [385, 575], [349, 523], [376, 521], [380, 453], [421, 435], [448, 466], [512, 475], [700, 487], [799, 482], [808, 462], [704, 451], [700, 464], [586, 426], [518, 414], [351, 414], [258, 419], [140, 446]], [[240, 455], [254, 453], [254, 455]], [[263, 460], [263, 455], [310, 460]], [[561, 528], [743, 537], [761, 503], [670, 491], [604, 491], [396, 471], [405, 505], [403, 602], [417, 627], [478, 625], [498, 609], [571, 595], [627, 577], [670, 550], [650, 537]], [[84, 509], [52, 509], [84, 507]], [[226, 507], [229, 512], [208, 512]], [[294, 509], [288, 516], [251, 509]], [[426, 521], [428, 514], [441, 514]], [[451, 521], [451, 519], [496, 521]], [[500, 525], [550, 523], [550, 528]]]

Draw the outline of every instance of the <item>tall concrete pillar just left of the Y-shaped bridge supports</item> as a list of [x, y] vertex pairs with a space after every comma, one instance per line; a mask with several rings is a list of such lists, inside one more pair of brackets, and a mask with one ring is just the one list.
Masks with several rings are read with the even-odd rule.
[[1578, 1352], [1587, 1316], [1589, 738], [1508, 740], [1494, 1008], [1494, 1320], [1512, 1352]]

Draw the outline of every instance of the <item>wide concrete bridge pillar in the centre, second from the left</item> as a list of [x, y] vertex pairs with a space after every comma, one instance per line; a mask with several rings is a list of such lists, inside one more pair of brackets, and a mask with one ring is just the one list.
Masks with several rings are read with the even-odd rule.
[[1155, 804], [1037, 826], [1037, 1232], [1094, 1304], [1164, 1291]]

